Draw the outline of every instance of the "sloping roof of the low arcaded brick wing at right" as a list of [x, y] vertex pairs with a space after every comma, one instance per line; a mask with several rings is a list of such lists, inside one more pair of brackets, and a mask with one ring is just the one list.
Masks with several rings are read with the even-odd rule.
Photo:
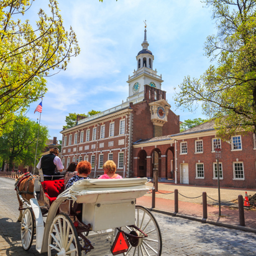
[[171, 139], [174, 139], [172, 137], [175, 137], [175, 136], [186, 135], [186, 134], [196, 134], [198, 132], [207, 132], [209, 130], [214, 130], [214, 120], [209, 122], [204, 122], [203, 124], [199, 124], [199, 126], [194, 126], [191, 129], [185, 130], [184, 132], [180, 132], [178, 134], [153, 137], [145, 140], [138, 140], [137, 142], [134, 142], [134, 144], [144, 144], [144, 143], [150, 143], [150, 142], [159, 142], [163, 140], [171, 140]]

